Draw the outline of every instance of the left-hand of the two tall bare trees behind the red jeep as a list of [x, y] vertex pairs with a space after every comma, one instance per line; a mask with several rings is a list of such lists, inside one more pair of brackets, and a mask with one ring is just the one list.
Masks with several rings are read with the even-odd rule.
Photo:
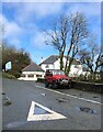
[[67, 38], [69, 33], [69, 16], [60, 15], [57, 21], [52, 22], [50, 24], [52, 31], [45, 30], [46, 34], [50, 37], [46, 40], [46, 44], [50, 44], [59, 52], [60, 57], [60, 69], [64, 68], [64, 55], [67, 45]]

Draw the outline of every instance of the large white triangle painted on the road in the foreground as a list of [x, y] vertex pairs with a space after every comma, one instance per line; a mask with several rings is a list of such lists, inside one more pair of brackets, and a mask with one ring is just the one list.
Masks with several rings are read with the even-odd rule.
[[[38, 106], [39, 108], [44, 109], [45, 111], [49, 112], [49, 113], [35, 114], [34, 113], [35, 105]], [[37, 102], [32, 101], [28, 117], [27, 117], [27, 121], [58, 120], [58, 119], [67, 119], [67, 118], [60, 113], [57, 113], [57, 112], [37, 103]]]

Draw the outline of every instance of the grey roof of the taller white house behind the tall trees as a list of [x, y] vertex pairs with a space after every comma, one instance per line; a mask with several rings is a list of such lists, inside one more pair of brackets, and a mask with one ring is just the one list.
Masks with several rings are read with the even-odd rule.
[[[66, 57], [66, 56], [65, 56]], [[48, 58], [46, 58], [42, 64], [54, 64], [56, 61], [58, 61], [59, 56], [58, 55], [52, 55]], [[79, 61], [73, 59], [72, 65], [80, 65]]]

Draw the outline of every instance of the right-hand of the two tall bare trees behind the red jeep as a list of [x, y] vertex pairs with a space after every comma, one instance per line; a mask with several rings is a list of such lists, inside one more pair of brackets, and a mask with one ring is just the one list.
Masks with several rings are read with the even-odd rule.
[[[82, 47], [83, 41], [88, 37], [88, 22], [82, 13], [71, 14], [70, 20], [70, 40], [68, 44], [67, 61], [65, 73], [68, 75], [75, 56]], [[71, 55], [71, 57], [69, 57]], [[69, 61], [69, 63], [68, 63]]]

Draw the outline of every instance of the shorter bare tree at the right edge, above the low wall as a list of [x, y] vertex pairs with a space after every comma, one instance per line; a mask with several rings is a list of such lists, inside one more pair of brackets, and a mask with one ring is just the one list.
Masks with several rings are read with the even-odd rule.
[[88, 67], [93, 79], [95, 79], [95, 74], [100, 72], [100, 67], [103, 66], [101, 47], [98, 46], [94, 40], [88, 44], [88, 47], [85, 51], [79, 53], [80, 61]]

